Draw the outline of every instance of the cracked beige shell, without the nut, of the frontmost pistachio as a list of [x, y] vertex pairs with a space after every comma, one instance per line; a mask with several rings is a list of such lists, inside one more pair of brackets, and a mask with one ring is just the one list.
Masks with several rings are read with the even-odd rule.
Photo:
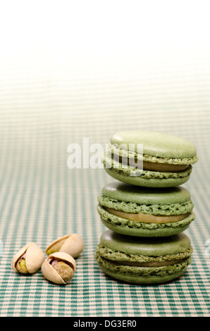
[[66, 262], [70, 266], [72, 269], [70, 273], [70, 279], [73, 278], [76, 270], [75, 259], [66, 252], [57, 251], [50, 254], [48, 258], [44, 260], [44, 263], [42, 263], [42, 274], [47, 280], [50, 280], [56, 284], [66, 284], [66, 281], [63, 280], [61, 275], [59, 275], [56, 269], [51, 265], [50, 261], [53, 258], [56, 258], [58, 261]]

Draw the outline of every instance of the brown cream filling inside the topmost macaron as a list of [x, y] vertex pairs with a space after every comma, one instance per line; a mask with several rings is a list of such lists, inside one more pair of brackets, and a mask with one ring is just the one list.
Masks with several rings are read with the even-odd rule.
[[[142, 162], [138, 161], [137, 159], [126, 158], [124, 156], [115, 156], [115, 155], [114, 158], [125, 165], [130, 165], [131, 167], [134, 168], [142, 168]], [[143, 161], [143, 170], [178, 173], [179, 171], [183, 171], [188, 167], [189, 167], [188, 164], [185, 165], [185, 164], [153, 163], [153, 162]]]

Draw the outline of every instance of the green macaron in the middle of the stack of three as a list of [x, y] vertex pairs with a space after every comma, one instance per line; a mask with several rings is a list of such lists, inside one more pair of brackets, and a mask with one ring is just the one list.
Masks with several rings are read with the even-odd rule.
[[101, 189], [97, 211], [114, 232], [137, 237], [168, 237], [194, 220], [194, 204], [185, 187], [138, 187], [111, 182]]

